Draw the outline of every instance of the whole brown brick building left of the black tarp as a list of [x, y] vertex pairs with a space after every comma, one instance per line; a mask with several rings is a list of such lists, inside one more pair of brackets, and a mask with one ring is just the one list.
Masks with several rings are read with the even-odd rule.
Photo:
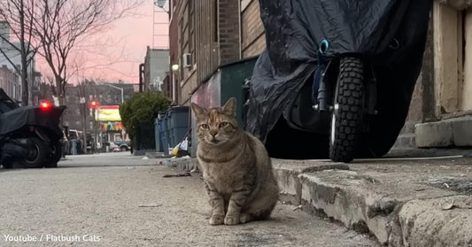
[[173, 0], [170, 6], [170, 96], [190, 94], [221, 65], [259, 55], [265, 48], [257, 0]]

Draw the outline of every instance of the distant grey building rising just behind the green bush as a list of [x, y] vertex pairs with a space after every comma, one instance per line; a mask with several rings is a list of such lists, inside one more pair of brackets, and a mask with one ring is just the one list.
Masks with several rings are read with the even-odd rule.
[[169, 73], [169, 50], [147, 47], [144, 58], [144, 91], [162, 91], [162, 84]]

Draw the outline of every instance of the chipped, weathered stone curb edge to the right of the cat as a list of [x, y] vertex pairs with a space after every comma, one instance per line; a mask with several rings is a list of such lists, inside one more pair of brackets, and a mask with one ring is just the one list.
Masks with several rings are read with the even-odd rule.
[[[385, 187], [392, 184], [382, 176], [344, 167], [314, 172], [275, 167], [275, 174], [282, 194], [291, 195], [292, 203], [306, 205], [346, 228], [370, 233], [383, 245], [472, 246], [471, 197], [420, 186], [401, 191], [401, 183], [389, 190]], [[401, 193], [393, 195], [393, 190]], [[463, 206], [444, 211], [439, 202], [444, 199], [461, 201]]]

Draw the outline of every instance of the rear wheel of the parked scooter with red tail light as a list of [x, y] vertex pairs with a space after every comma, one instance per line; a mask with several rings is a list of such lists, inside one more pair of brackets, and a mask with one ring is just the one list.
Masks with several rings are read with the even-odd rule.
[[20, 160], [20, 165], [25, 168], [43, 168], [49, 158], [50, 148], [39, 138], [30, 137], [31, 145], [28, 147], [28, 155]]

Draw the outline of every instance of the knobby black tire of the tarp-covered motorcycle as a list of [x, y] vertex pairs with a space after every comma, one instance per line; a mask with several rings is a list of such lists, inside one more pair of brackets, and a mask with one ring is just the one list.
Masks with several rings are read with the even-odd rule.
[[329, 158], [351, 162], [363, 117], [364, 69], [359, 58], [341, 58], [331, 113]]

